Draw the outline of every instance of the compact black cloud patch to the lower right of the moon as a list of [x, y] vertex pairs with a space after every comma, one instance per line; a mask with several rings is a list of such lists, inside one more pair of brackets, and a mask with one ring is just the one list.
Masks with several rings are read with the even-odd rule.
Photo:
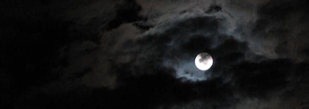
[[[294, 64], [291, 60], [269, 60], [260, 63], [242, 62], [231, 69], [235, 87], [249, 93], [267, 93], [269, 90], [283, 88], [291, 77]], [[237, 70], [236, 70], [237, 69]], [[242, 91], [243, 92], [243, 91]]]

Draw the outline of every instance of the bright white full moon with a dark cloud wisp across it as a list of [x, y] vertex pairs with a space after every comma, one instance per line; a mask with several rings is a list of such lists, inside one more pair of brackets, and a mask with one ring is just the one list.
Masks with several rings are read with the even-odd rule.
[[207, 53], [200, 53], [195, 57], [195, 65], [200, 70], [208, 70], [213, 63], [212, 57]]

